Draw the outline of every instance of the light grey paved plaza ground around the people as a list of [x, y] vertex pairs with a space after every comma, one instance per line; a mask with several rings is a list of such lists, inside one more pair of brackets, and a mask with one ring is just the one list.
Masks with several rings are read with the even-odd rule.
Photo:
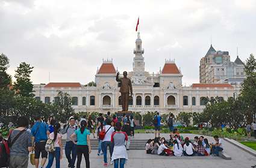
[[[184, 137], [190, 137], [192, 139], [195, 134], [182, 134]], [[162, 134], [162, 136], [169, 137], [168, 134]], [[197, 135], [198, 136], [198, 135]], [[154, 137], [154, 134], [136, 134], [136, 139], [149, 139]], [[211, 142], [213, 140], [212, 137], [207, 137]], [[142, 167], [155, 167], [155, 168], [167, 168], [167, 167], [175, 167], [175, 168], [205, 168], [205, 167], [236, 167], [236, 168], [246, 168], [251, 167], [253, 164], [256, 164], [256, 157], [248, 154], [245, 151], [237, 148], [231, 143], [223, 141], [223, 146], [225, 153], [232, 157], [232, 160], [224, 160], [220, 157], [164, 157], [158, 155], [145, 154], [143, 150], [131, 150], [128, 151], [129, 160], [126, 163], [125, 167], [129, 168], [142, 168]], [[109, 158], [109, 157], [108, 157]], [[96, 150], [92, 151], [90, 154], [90, 167], [98, 168], [103, 167], [103, 156], [96, 155]], [[34, 167], [34, 166], [29, 166]], [[52, 166], [55, 167], [55, 166]], [[66, 157], [61, 160], [61, 168], [67, 167]], [[83, 162], [81, 167], [86, 167], [86, 164]], [[108, 167], [113, 167], [110, 165]]]

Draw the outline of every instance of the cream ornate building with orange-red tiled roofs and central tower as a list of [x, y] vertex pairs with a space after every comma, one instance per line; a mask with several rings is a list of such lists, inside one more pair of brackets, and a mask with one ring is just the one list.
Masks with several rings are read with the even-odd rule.
[[[140, 34], [137, 35], [134, 49], [133, 71], [128, 73], [133, 84], [129, 110], [134, 112], [160, 113], [202, 112], [205, 98], [219, 97], [227, 100], [233, 97], [236, 89], [228, 83], [193, 83], [182, 86], [183, 74], [175, 61], [166, 59], [164, 67], [157, 74], [145, 71], [144, 49]], [[119, 85], [116, 82], [117, 70], [112, 60], [104, 60], [95, 75], [96, 86], [80, 83], [48, 83], [34, 85], [36, 98], [44, 103], [52, 103], [57, 91], [70, 94], [76, 112], [117, 112], [120, 106]], [[122, 74], [122, 72], [121, 72]]]

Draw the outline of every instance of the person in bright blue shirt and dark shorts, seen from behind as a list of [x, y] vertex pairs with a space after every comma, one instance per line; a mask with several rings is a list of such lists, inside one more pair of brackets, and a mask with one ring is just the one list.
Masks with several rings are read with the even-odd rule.
[[33, 136], [32, 144], [35, 143], [34, 145], [35, 165], [36, 165], [36, 168], [39, 167], [39, 157], [41, 154], [42, 161], [39, 168], [42, 168], [43, 166], [45, 166], [45, 162], [48, 155], [48, 153], [45, 151], [45, 145], [50, 132], [49, 132], [48, 125], [45, 122], [41, 121], [40, 116], [36, 116], [35, 120], [36, 122], [31, 129], [31, 134]]

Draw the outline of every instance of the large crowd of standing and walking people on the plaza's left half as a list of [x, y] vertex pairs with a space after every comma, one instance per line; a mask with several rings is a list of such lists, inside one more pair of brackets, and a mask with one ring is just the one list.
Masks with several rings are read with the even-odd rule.
[[[96, 121], [92, 116], [75, 119], [73, 116], [67, 124], [61, 127], [60, 122], [53, 117], [44, 122], [41, 116], [34, 118], [35, 122], [29, 127], [30, 122], [25, 116], [17, 119], [17, 127], [10, 130], [8, 139], [4, 140], [0, 134], [0, 145], [8, 142], [10, 148], [10, 168], [28, 167], [29, 153], [34, 152], [34, 164], [36, 168], [50, 168], [54, 163], [60, 168], [60, 160], [66, 155], [68, 167], [80, 168], [84, 155], [86, 167], [90, 167], [90, 134], [98, 138], [98, 155], [104, 155], [104, 166], [114, 164], [114, 168], [124, 167], [128, 159], [126, 151], [130, 148], [131, 136], [134, 136], [133, 116], [124, 114], [117, 119], [116, 115], [111, 116], [110, 112], [104, 116], [99, 113]], [[119, 121], [120, 120], [120, 121]], [[101, 138], [99, 134], [104, 133]], [[62, 137], [66, 134], [66, 145], [62, 144]], [[2, 147], [2, 146], [0, 146]], [[107, 159], [107, 148], [110, 152], [110, 161]], [[1, 149], [1, 148], [0, 148]], [[1, 151], [0, 151], [1, 152]], [[39, 161], [41, 157], [41, 161]], [[46, 161], [48, 159], [48, 164]], [[76, 161], [77, 159], [77, 161]], [[76, 165], [75, 165], [76, 162]]]

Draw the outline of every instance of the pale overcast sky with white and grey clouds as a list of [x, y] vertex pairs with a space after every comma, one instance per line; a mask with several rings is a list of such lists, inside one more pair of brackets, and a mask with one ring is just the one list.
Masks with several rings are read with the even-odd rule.
[[131, 71], [135, 28], [145, 49], [145, 68], [157, 72], [175, 59], [183, 84], [199, 82], [199, 59], [210, 47], [242, 61], [256, 53], [256, 1], [64, 1], [0, 0], [0, 53], [13, 76], [20, 62], [34, 66], [33, 83], [88, 83], [102, 58]]

